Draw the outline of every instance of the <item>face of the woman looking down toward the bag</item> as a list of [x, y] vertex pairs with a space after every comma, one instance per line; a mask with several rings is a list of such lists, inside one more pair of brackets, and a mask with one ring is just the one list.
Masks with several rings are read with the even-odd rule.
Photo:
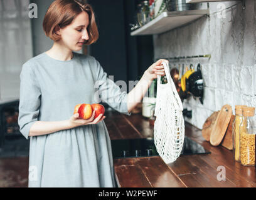
[[82, 49], [83, 42], [89, 39], [87, 27], [89, 25], [89, 16], [83, 11], [78, 14], [72, 23], [60, 29], [61, 43], [72, 51]]

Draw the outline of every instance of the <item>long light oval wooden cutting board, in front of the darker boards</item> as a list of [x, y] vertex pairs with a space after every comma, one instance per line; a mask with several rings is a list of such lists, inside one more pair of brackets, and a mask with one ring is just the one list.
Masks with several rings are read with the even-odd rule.
[[232, 116], [232, 107], [228, 104], [224, 105], [217, 116], [217, 119], [215, 121], [215, 124], [213, 125], [213, 128], [211, 129], [211, 134], [210, 134], [211, 145], [218, 146], [221, 143], [227, 131], [228, 124], [230, 123], [231, 116]]

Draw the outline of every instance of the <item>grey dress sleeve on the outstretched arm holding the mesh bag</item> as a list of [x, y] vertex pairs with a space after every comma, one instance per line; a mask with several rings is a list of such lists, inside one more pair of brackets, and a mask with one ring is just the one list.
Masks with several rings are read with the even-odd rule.
[[110, 107], [119, 111], [119, 113], [130, 116], [131, 113], [128, 113], [127, 108], [127, 93], [125, 91], [122, 92], [119, 86], [117, 86], [112, 79], [107, 78], [107, 73], [105, 73], [102, 66], [100, 66], [99, 61], [95, 61], [97, 76], [95, 88], [99, 89], [96, 93], [96, 98], [99, 96], [99, 100], [97, 101], [104, 101], [109, 104]]

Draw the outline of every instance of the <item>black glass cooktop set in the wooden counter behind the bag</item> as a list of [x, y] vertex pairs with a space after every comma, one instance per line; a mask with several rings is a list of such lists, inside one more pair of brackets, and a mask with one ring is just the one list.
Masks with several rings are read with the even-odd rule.
[[[158, 156], [154, 139], [138, 138], [138, 139], [115, 139], [111, 141], [113, 158], [134, 158]], [[201, 144], [189, 139], [185, 136], [181, 155], [193, 154], [209, 154]]]

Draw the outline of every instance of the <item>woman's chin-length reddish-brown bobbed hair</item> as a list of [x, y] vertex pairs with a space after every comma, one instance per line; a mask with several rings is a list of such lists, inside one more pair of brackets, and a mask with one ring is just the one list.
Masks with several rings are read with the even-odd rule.
[[61, 36], [56, 34], [56, 26], [60, 26], [61, 28], [68, 26], [83, 11], [87, 12], [89, 16], [90, 23], [87, 27], [89, 39], [85, 41], [85, 44], [90, 45], [99, 38], [99, 31], [92, 6], [83, 0], [53, 1], [43, 19], [43, 31], [53, 41], [59, 41]]

